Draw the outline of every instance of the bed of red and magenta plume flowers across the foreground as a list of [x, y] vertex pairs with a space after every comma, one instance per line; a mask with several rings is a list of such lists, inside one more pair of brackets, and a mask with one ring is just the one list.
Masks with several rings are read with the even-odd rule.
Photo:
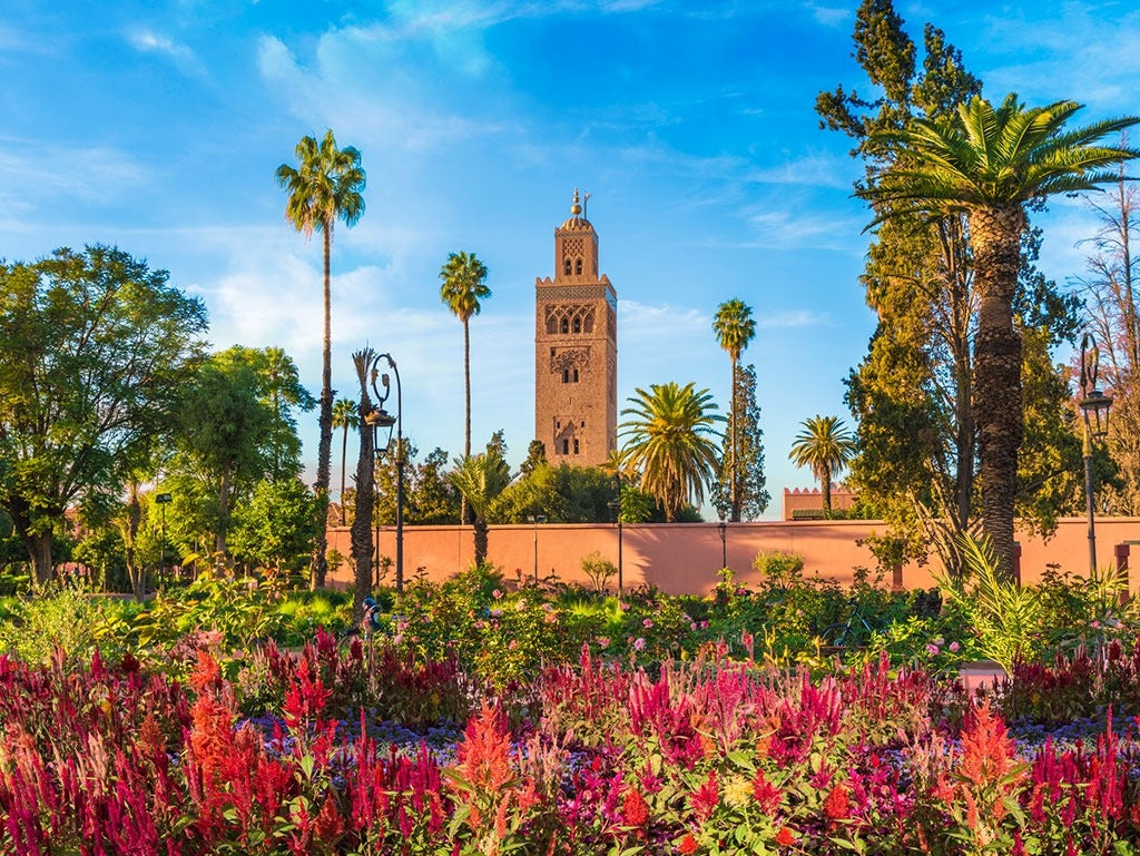
[[[994, 702], [922, 669], [725, 651], [650, 674], [587, 649], [503, 696], [327, 636], [263, 650], [260, 683], [199, 651], [188, 687], [133, 658], [0, 657], [0, 853], [1137, 851], [1131, 723], [1018, 748]], [[243, 717], [243, 685], [271, 719]], [[429, 748], [386, 741], [381, 704], [424, 734], [474, 708]]]

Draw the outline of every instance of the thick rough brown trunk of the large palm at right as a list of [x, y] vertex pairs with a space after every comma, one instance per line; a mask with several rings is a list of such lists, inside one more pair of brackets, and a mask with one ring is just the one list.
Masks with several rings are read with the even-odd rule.
[[982, 523], [1001, 569], [1013, 569], [1013, 503], [1021, 446], [1021, 334], [1013, 326], [1025, 214], [1019, 205], [970, 212], [978, 291], [974, 414], [982, 465]]

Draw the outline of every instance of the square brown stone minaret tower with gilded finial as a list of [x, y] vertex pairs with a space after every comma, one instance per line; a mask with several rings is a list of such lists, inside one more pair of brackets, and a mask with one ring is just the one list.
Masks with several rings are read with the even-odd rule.
[[618, 448], [618, 295], [581, 214], [576, 189], [554, 278], [535, 280], [535, 438], [555, 466], [597, 466]]

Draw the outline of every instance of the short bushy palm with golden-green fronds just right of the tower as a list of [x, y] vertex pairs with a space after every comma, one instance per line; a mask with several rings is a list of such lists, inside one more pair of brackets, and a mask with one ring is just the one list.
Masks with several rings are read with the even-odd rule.
[[705, 499], [705, 483], [717, 466], [714, 424], [724, 417], [716, 409], [708, 390], [695, 392], [693, 384], [675, 382], [652, 384], [650, 391], [635, 390], [633, 407], [621, 411], [633, 418], [622, 422], [628, 438], [622, 447], [625, 460], [641, 473], [641, 488], [665, 508], [671, 523], [686, 502]]

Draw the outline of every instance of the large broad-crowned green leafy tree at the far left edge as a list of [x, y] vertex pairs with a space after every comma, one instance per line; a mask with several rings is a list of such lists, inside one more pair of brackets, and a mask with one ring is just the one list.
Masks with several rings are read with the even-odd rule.
[[51, 578], [52, 530], [120, 494], [174, 423], [202, 303], [121, 250], [0, 263], [0, 506]]

